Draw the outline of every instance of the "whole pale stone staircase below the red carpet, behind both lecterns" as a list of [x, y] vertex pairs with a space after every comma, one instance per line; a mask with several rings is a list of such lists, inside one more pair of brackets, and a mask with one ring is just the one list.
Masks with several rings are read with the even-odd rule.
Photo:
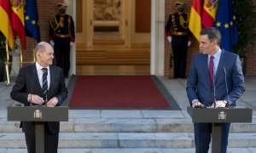
[[[0, 152], [26, 152], [19, 126], [20, 122], [0, 118]], [[195, 152], [193, 124], [185, 111], [70, 110], [69, 121], [61, 122], [59, 148], [59, 152]], [[229, 151], [256, 151], [255, 119], [231, 124]]]

